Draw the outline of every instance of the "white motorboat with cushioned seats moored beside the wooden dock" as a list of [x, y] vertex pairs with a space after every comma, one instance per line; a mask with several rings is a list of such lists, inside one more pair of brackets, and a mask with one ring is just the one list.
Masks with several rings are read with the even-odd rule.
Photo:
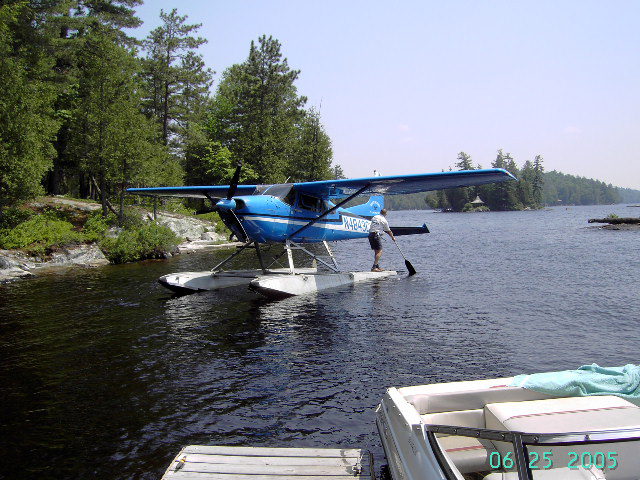
[[376, 424], [393, 480], [640, 479], [637, 400], [516, 378], [389, 388]]

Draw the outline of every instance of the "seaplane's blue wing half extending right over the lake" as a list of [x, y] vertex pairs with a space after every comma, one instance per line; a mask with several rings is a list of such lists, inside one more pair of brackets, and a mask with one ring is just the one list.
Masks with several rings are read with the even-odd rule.
[[389, 177], [350, 178], [344, 180], [322, 180], [294, 184], [299, 192], [322, 198], [341, 198], [363, 189], [361, 195], [399, 195], [428, 192], [445, 188], [468, 187], [486, 183], [517, 180], [502, 168], [481, 170], [459, 170], [452, 172], [419, 173]]

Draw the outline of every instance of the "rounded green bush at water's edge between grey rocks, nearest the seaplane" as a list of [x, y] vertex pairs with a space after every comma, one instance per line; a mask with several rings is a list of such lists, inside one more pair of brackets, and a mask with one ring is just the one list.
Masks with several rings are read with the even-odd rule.
[[173, 250], [179, 239], [170, 228], [156, 222], [122, 230], [117, 237], [105, 237], [100, 248], [112, 263], [158, 258]]

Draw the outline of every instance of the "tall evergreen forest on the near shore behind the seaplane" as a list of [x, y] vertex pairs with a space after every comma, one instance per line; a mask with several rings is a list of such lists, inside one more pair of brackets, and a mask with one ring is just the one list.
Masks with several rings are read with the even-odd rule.
[[201, 25], [161, 11], [137, 40], [141, 3], [2, 2], [0, 213], [47, 193], [121, 214], [130, 186], [224, 184], [238, 162], [241, 182], [341, 175], [276, 39], [252, 41], [214, 89]]

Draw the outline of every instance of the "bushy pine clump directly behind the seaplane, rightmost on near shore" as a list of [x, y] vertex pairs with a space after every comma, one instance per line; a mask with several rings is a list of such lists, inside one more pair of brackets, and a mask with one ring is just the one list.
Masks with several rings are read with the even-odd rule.
[[223, 73], [211, 102], [209, 143], [197, 158], [200, 178], [226, 183], [239, 161], [241, 182], [344, 178], [340, 166], [331, 165], [319, 111], [304, 110], [307, 99], [295, 87], [299, 74], [282, 57], [280, 42], [264, 35], [251, 42], [249, 57]]

